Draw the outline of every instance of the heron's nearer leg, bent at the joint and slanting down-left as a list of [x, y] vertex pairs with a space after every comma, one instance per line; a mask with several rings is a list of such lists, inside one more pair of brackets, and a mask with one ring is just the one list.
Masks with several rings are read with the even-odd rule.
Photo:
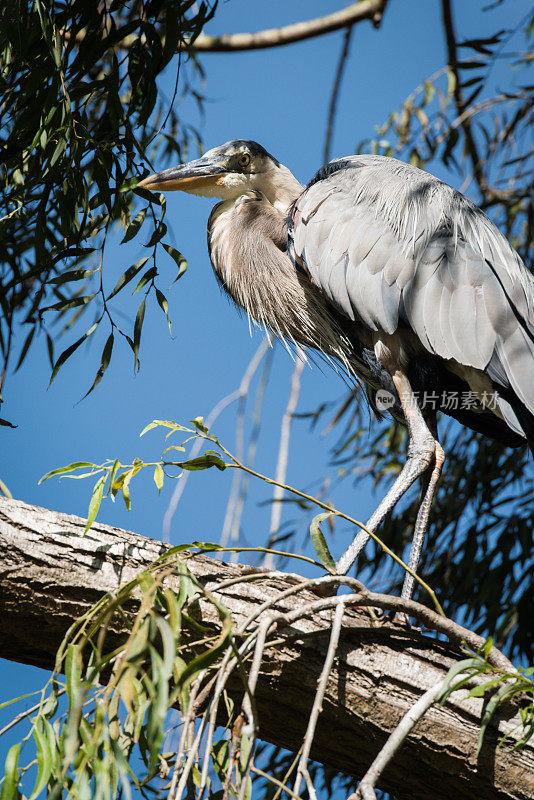
[[[385, 517], [395, 507], [400, 498], [408, 491], [410, 486], [419, 478], [432, 464], [436, 457], [437, 442], [430, 432], [428, 425], [421, 413], [417, 401], [412, 392], [412, 387], [407, 376], [401, 370], [396, 370], [392, 374], [393, 382], [399, 394], [402, 405], [402, 410], [408, 425], [410, 434], [410, 446], [408, 448], [408, 457], [402, 470], [400, 471], [393, 486], [389, 489], [388, 493], [367, 521], [366, 528], [374, 533]], [[441, 448], [440, 448], [441, 449]], [[441, 462], [443, 463], [443, 461]], [[440, 466], [441, 468], [441, 466]], [[436, 477], [432, 494], [434, 492]], [[426, 495], [425, 495], [426, 499]], [[432, 495], [428, 501], [428, 510], [426, 517], [422, 518], [422, 536], [424, 537], [424, 528], [428, 520], [428, 511], [430, 510], [430, 502]], [[417, 519], [419, 520], [419, 514]], [[417, 527], [417, 523], [416, 523]], [[340, 575], [346, 575], [351, 566], [356, 561], [360, 551], [365, 547], [369, 540], [369, 534], [366, 531], [361, 531], [353, 540], [352, 544], [343, 553], [341, 558], [336, 564], [336, 570]], [[419, 545], [419, 553], [421, 552], [421, 543]], [[409, 576], [407, 576], [409, 577]]]

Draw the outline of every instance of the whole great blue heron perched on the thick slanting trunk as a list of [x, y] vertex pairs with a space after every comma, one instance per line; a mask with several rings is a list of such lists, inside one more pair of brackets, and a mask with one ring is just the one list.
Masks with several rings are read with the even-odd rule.
[[[408, 457], [366, 527], [376, 531], [423, 476], [412, 570], [444, 460], [438, 410], [534, 452], [534, 278], [459, 192], [371, 155], [332, 161], [303, 187], [241, 139], [138, 186], [222, 198], [208, 247], [223, 289], [277, 336], [336, 359], [371, 399], [391, 399], [408, 427]], [[354, 539], [340, 574], [367, 538]], [[412, 589], [407, 574], [403, 597]]]

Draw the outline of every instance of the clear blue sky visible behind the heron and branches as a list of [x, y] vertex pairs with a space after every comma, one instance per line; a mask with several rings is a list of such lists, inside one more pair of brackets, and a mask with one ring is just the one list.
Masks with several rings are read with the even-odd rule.
[[[456, 3], [457, 28], [466, 38], [493, 33], [508, 23], [505, 9], [481, 14], [488, 0]], [[258, 30], [326, 14], [340, 4], [313, 2], [221, 2], [206, 32], [211, 34]], [[515, 8], [530, 8], [527, 0], [515, 0]], [[515, 13], [514, 13], [515, 16]], [[519, 14], [517, 15], [519, 16]], [[205, 147], [232, 138], [255, 139], [302, 181], [321, 165], [325, 122], [333, 75], [343, 34], [341, 32], [272, 51], [234, 55], [205, 55], [205, 117], [199, 119], [191, 104], [181, 113], [200, 126]], [[357, 143], [373, 134], [380, 124], [421, 81], [443, 66], [439, 4], [431, 0], [391, 0], [380, 31], [369, 23], [354, 31], [350, 60], [345, 72], [336, 119], [332, 157], [354, 152]], [[493, 80], [505, 88], [509, 77], [497, 71]], [[163, 84], [170, 92], [173, 68]], [[436, 170], [447, 179], [445, 171]], [[453, 179], [454, 182], [454, 179]], [[249, 334], [248, 323], [221, 295], [213, 278], [206, 249], [206, 221], [212, 201], [175, 193], [168, 197], [172, 241], [189, 262], [185, 276], [166, 292], [173, 321], [173, 338], [155, 306], [147, 310], [141, 345], [141, 370], [133, 374], [131, 353], [119, 350], [97, 390], [83, 402], [96, 372], [102, 341], [78, 351], [47, 391], [50, 369], [44, 343], [38, 344], [23, 368], [8, 377], [2, 416], [13, 420], [16, 430], [0, 429], [0, 475], [13, 496], [57, 511], [85, 515], [90, 484], [84, 481], [37, 481], [46, 471], [76, 461], [135, 456], [154, 460], [161, 451], [162, 436], [151, 433], [139, 440], [139, 432], [154, 418], [187, 422], [207, 416], [225, 395], [234, 391], [261, 341], [259, 332]], [[119, 246], [122, 231], [110, 242], [105, 279], [111, 289], [117, 277], [142, 255], [141, 244]], [[140, 242], [142, 239], [140, 239]], [[161, 284], [170, 286], [175, 268], [161, 256]], [[137, 302], [136, 302], [137, 301]], [[118, 308], [132, 319], [138, 295]], [[23, 334], [21, 334], [22, 340]], [[63, 346], [69, 341], [64, 340]], [[274, 474], [280, 420], [293, 363], [278, 348], [265, 402], [256, 458], [257, 468]], [[311, 411], [344, 394], [340, 379], [327, 368], [306, 369], [298, 411]], [[250, 428], [251, 404], [247, 412]], [[235, 438], [235, 404], [215, 426], [222, 441], [232, 449]], [[332, 436], [310, 431], [304, 421], [292, 428], [288, 482], [316, 488], [329, 468]], [[330, 470], [331, 471], [331, 470]], [[212, 474], [214, 473], [214, 474]], [[173, 544], [194, 539], [217, 541], [220, 536], [231, 475], [195, 473], [173, 520]], [[160, 538], [162, 519], [172, 486], [157, 494], [151, 477], [132, 485], [133, 509], [107, 502], [100, 511], [102, 522]], [[269, 498], [263, 485], [253, 484], [243, 526], [247, 540], [265, 541], [269, 507], [257, 503]], [[339, 508], [365, 519], [373, 508], [368, 486], [345, 481], [333, 492]], [[289, 512], [291, 513], [291, 512]], [[339, 537], [335, 547], [342, 548]], [[22, 694], [41, 684], [44, 673], [0, 662], [4, 696]], [[3, 712], [4, 717], [7, 715]], [[3, 745], [3, 742], [1, 743]]]

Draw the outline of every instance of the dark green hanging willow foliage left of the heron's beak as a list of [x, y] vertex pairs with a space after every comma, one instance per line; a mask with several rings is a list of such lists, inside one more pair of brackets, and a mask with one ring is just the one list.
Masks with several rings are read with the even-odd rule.
[[[165, 203], [136, 192], [138, 177], [154, 158], [181, 159], [191, 142], [200, 144], [193, 126], [170, 104], [157, 81], [171, 63], [180, 42], [194, 38], [210, 19], [206, 3], [170, 0], [164, 8], [134, 3], [72, 6], [54, 0], [5, 3], [0, 11], [0, 390], [14, 357], [15, 327], [25, 335], [16, 369], [25, 361], [38, 334], [45, 335], [52, 380], [70, 356], [107, 322], [109, 330], [91, 392], [112, 357], [117, 334], [139, 364], [139, 344], [146, 295], [154, 291], [168, 319], [167, 300], [155, 285], [160, 247], [174, 259], [178, 277], [183, 257], [163, 241]], [[84, 31], [82, 38], [77, 33]], [[131, 46], [119, 53], [128, 35]], [[191, 60], [192, 75], [198, 74]], [[180, 72], [181, 99], [202, 97]], [[150, 205], [132, 219], [139, 199]], [[159, 206], [159, 216], [154, 206]], [[106, 294], [105, 248], [108, 232], [125, 230], [123, 243], [139, 234], [147, 210], [153, 229], [151, 255], [128, 268]], [[134, 291], [144, 292], [133, 334], [118, 325], [108, 305], [138, 277]], [[86, 263], [88, 262], [88, 266]], [[92, 313], [90, 325], [82, 318]], [[52, 318], [52, 322], [50, 319]], [[54, 325], [62, 325], [54, 330]], [[77, 332], [63, 352], [55, 340]]]

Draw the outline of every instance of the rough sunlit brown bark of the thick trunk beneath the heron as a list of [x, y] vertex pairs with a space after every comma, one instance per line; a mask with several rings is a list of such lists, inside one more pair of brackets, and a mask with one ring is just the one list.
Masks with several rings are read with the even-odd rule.
[[[25, 503], [0, 499], [0, 655], [50, 668], [67, 628], [104, 592], [132, 578], [165, 548], [138, 534], [95, 524], [83, 536], [84, 520]], [[206, 556], [189, 567], [207, 586], [242, 574]], [[228, 587], [219, 598], [240, 624], [257, 605], [276, 597], [295, 578], [266, 574]], [[281, 601], [288, 611], [316, 596]], [[218, 618], [206, 604], [213, 625]], [[306, 729], [328, 643], [331, 612], [300, 620], [296, 627], [317, 635], [294, 638], [268, 649], [256, 690], [261, 736], [297, 750]], [[322, 632], [324, 631], [324, 635]], [[458, 655], [415, 630], [376, 626], [364, 609], [347, 611], [311, 751], [312, 758], [355, 776], [363, 774], [387, 736], [423, 691], [435, 685]], [[242, 690], [231, 687], [238, 699]], [[411, 800], [527, 800], [534, 796], [534, 749], [512, 747], [518, 736], [517, 708], [501, 711], [498, 730], [488, 731], [475, 759], [483, 701], [455, 693], [421, 720], [387, 768], [381, 787]], [[497, 748], [505, 733], [509, 740]]]

